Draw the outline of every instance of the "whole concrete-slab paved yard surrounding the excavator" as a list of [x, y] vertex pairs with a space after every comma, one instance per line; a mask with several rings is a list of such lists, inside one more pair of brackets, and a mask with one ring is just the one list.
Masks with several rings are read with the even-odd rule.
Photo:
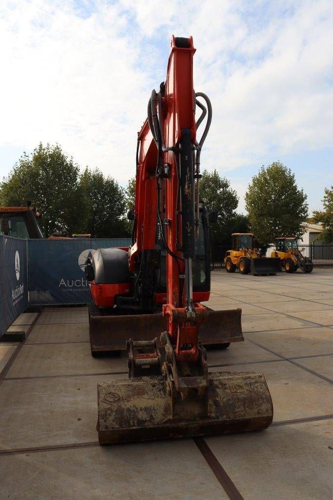
[[96, 385], [126, 360], [90, 356], [87, 310], [45, 308], [0, 344], [0, 498], [331, 500], [333, 269], [212, 273], [212, 308], [242, 309], [246, 338], [208, 353], [211, 370], [262, 371], [265, 431], [101, 447]]

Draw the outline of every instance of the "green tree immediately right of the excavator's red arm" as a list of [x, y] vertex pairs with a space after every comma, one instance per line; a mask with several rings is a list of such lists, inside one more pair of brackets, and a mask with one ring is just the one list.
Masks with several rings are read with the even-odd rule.
[[235, 212], [238, 205], [236, 191], [231, 189], [230, 182], [221, 177], [216, 169], [211, 173], [203, 170], [200, 199], [208, 211], [216, 210], [218, 214], [217, 222], [211, 224], [214, 243], [229, 244], [233, 231], [240, 232], [243, 227], [247, 227], [246, 217]]

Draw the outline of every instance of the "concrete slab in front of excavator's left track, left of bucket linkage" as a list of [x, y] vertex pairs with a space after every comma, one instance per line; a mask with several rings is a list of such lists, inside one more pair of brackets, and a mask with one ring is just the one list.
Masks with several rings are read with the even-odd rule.
[[94, 358], [88, 343], [24, 344], [8, 371], [7, 378], [126, 370], [125, 357]]

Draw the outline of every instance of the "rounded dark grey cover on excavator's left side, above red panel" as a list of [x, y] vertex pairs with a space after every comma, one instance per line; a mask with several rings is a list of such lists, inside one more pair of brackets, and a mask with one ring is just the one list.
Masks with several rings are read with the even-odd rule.
[[91, 265], [96, 284], [126, 283], [129, 281], [128, 256], [121, 248], [98, 248]]

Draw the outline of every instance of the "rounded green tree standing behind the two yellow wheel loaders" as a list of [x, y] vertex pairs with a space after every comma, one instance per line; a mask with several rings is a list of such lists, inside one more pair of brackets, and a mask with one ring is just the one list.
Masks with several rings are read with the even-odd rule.
[[245, 193], [248, 219], [256, 239], [267, 244], [276, 236], [300, 237], [308, 216], [306, 198], [290, 168], [279, 161], [267, 168], [262, 166]]

